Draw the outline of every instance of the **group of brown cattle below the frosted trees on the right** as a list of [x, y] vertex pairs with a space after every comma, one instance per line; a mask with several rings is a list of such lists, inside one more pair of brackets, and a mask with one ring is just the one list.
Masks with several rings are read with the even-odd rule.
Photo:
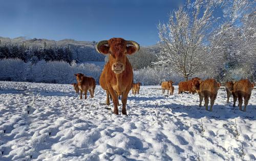
[[[244, 111], [246, 111], [246, 106], [251, 96], [251, 90], [254, 87], [254, 84], [251, 83], [248, 79], [240, 80], [238, 82], [226, 82], [225, 88], [227, 91], [227, 103], [229, 103], [229, 97], [233, 96], [233, 107], [236, 106], [236, 101], [238, 99], [239, 109], [242, 110], [242, 103], [244, 98]], [[164, 90], [167, 89], [170, 91], [170, 95], [173, 95], [174, 86], [173, 81], [162, 82], [162, 93], [164, 94]], [[191, 80], [180, 82], [179, 83], [179, 92], [181, 94], [184, 91], [188, 91], [189, 94], [198, 93], [199, 95], [199, 106], [202, 106], [202, 101], [204, 99], [205, 109], [208, 110], [208, 103], [210, 98], [210, 111], [212, 111], [212, 106], [214, 105], [215, 99], [217, 97], [218, 89], [221, 87], [221, 83], [218, 83], [215, 79], [206, 79], [202, 80], [198, 77], [195, 77]]]

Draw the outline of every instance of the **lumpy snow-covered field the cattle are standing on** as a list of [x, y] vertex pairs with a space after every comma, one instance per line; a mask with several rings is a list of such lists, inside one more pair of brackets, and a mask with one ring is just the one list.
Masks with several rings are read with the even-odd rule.
[[0, 82], [0, 160], [256, 159], [255, 90], [242, 112], [221, 88], [209, 112], [198, 95], [158, 88], [130, 93], [128, 116], [116, 116], [98, 85], [80, 100], [71, 85]]

